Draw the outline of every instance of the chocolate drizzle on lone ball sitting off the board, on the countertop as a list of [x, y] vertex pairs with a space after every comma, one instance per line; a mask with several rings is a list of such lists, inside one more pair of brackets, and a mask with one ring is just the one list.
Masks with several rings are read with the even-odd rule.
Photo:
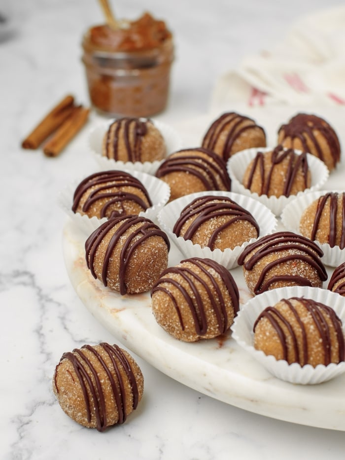
[[[104, 381], [101, 381], [100, 376], [97, 373], [97, 370], [92, 362], [94, 359], [88, 358], [87, 354], [83, 353], [83, 350], [88, 350], [89, 352], [93, 353], [95, 359], [100, 363], [106, 372], [111, 386], [112, 394], [114, 396], [115, 405], [119, 414], [117, 423], [122, 424], [126, 421], [127, 418], [126, 382], [121, 375], [120, 369], [122, 369], [125, 373], [126, 379], [128, 380], [132, 389], [133, 410], [138, 406], [139, 392], [137, 380], [132, 370], [131, 364], [123, 351], [117, 345], [111, 346], [107, 343], [101, 343], [100, 347], [102, 347], [104, 352], [108, 355], [111, 361], [111, 367], [106, 364], [102, 355], [90, 345], [84, 345], [81, 347], [81, 350], [74, 349], [72, 353], [64, 353], [60, 362], [63, 359], [69, 359], [69, 361], [73, 364], [74, 371], [78, 377], [84, 395], [87, 421], [89, 423], [91, 422], [92, 408], [95, 408], [96, 427], [98, 431], [104, 431], [108, 426], [105, 395], [103, 389]], [[55, 387], [57, 391], [59, 391], [56, 385], [56, 374], [57, 371], [55, 371]]]

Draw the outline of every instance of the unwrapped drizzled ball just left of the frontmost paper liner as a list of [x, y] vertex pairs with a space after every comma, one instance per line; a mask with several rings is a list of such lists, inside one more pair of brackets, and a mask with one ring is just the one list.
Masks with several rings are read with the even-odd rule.
[[158, 324], [178, 340], [196, 342], [226, 332], [239, 310], [230, 272], [210, 259], [193, 257], [165, 270], [151, 289]]

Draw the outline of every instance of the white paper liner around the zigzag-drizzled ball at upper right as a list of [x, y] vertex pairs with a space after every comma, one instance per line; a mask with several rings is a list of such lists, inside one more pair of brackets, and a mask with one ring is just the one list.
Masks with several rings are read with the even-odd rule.
[[[294, 200], [296, 196], [300, 196], [301, 194], [309, 191], [319, 190], [328, 179], [329, 171], [327, 166], [321, 160], [316, 158], [314, 155], [307, 153], [308, 165], [311, 171], [310, 188], [303, 192], [299, 192], [297, 195], [291, 195], [289, 197], [280, 196], [279, 198], [276, 196], [268, 197], [267, 195], [258, 195], [257, 193], [252, 193], [242, 184], [244, 172], [251, 160], [256, 156], [257, 152], [269, 152], [272, 151], [273, 148], [274, 147], [259, 147], [242, 150], [241, 152], [238, 152], [229, 158], [227, 162], [227, 170], [232, 181], [231, 189], [234, 192], [255, 198], [256, 200], [260, 201], [260, 203], [267, 206], [267, 208], [269, 208], [273, 213], [279, 216], [285, 206], [290, 203], [290, 201]], [[295, 150], [295, 152], [297, 154], [301, 153], [299, 150]]]

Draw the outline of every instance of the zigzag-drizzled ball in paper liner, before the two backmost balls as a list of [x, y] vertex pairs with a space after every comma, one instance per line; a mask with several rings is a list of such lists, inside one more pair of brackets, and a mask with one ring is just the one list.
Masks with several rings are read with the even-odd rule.
[[307, 154], [298, 155], [281, 145], [272, 151], [258, 152], [244, 172], [243, 185], [258, 195], [296, 195], [311, 186]]

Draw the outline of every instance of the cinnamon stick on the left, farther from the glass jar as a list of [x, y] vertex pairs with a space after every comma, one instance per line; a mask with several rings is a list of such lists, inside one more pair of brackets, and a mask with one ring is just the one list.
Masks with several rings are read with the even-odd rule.
[[66, 96], [55, 106], [22, 142], [23, 148], [37, 148], [69, 117], [74, 108], [74, 98]]

